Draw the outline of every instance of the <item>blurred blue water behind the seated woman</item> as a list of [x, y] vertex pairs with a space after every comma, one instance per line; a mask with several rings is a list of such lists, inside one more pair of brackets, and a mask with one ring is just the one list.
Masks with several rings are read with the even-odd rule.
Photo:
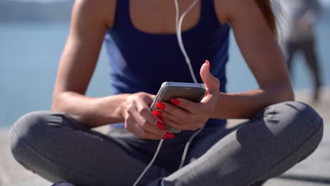
[[[324, 83], [330, 86], [330, 25], [324, 20], [317, 29], [318, 51]], [[49, 110], [56, 70], [68, 35], [68, 23], [0, 23], [0, 128], [8, 128], [24, 113]], [[228, 62], [228, 92], [257, 88], [231, 35], [231, 59]], [[311, 87], [302, 57], [295, 58], [295, 89]], [[106, 96], [109, 89], [109, 67], [104, 50], [87, 94]]]

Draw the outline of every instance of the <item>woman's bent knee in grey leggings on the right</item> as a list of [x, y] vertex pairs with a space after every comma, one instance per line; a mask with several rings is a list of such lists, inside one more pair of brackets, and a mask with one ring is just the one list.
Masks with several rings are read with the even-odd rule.
[[280, 129], [295, 144], [309, 142], [314, 148], [317, 147], [323, 136], [323, 120], [319, 114], [307, 104], [288, 101], [274, 105], [272, 109], [274, 118], [282, 125]]

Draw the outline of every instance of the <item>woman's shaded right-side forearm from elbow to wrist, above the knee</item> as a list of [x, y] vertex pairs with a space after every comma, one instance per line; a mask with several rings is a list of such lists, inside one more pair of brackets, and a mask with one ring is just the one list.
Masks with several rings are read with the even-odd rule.
[[212, 118], [251, 118], [271, 104], [293, 100], [291, 87], [284, 85], [247, 92], [219, 93]]

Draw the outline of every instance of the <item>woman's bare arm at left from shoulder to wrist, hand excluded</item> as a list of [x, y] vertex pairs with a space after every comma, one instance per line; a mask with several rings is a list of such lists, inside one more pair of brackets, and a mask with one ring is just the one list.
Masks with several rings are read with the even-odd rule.
[[[73, 7], [71, 30], [61, 56], [54, 88], [53, 111], [97, 127], [123, 121], [121, 105], [127, 95], [102, 98], [85, 96], [106, 29], [112, 25], [111, 1], [80, 0]], [[109, 104], [111, 103], [111, 104]]]

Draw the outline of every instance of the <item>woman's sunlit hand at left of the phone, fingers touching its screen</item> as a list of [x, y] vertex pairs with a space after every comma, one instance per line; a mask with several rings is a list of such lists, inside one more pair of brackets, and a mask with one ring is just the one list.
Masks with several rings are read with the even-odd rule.
[[161, 119], [154, 116], [149, 109], [154, 98], [154, 95], [146, 92], [138, 92], [128, 97], [124, 103], [125, 128], [146, 140], [173, 138], [173, 134], [166, 132]]

